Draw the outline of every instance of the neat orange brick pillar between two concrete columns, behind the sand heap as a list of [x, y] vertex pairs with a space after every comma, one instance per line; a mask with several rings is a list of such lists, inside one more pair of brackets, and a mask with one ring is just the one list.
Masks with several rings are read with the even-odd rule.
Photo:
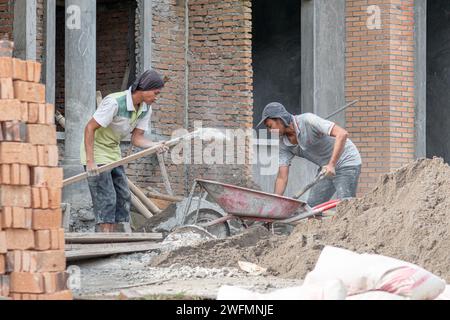
[[[369, 29], [369, 5], [381, 13]], [[360, 194], [414, 159], [414, 1], [347, 0], [347, 128], [363, 157]], [[373, 24], [370, 24], [372, 26]]]

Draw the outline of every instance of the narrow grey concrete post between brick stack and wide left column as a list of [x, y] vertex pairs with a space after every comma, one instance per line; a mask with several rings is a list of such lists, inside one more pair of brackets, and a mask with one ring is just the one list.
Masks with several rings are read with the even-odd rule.
[[55, 104], [56, 0], [45, 1], [45, 71], [46, 101]]

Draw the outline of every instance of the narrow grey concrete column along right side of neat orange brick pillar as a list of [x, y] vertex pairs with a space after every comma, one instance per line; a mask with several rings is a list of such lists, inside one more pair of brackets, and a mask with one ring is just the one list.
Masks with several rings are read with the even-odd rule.
[[427, 0], [414, 3], [416, 158], [427, 156]]

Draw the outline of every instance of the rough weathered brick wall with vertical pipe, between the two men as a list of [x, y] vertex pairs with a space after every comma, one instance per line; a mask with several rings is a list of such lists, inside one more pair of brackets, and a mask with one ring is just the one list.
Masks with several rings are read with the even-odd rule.
[[[154, 1], [152, 66], [170, 78], [153, 106], [152, 128], [159, 135], [171, 136], [185, 126], [185, 22], [184, 1]], [[189, 130], [195, 121], [204, 127], [251, 128], [251, 1], [190, 1], [187, 59]], [[248, 145], [240, 147], [249, 154]], [[167, 165], [178, 194], [195, 178], [250, 183], [250, 165]], [[127, 173], [141, 187], [164, 190], [154, 157], [130, 164]]]

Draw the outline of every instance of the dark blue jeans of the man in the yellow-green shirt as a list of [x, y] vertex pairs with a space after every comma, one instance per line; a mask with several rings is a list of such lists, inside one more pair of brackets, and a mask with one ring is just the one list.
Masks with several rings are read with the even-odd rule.
[[88, 177], [97, 224], [130, 221], [131, 192], [123, 166]]

